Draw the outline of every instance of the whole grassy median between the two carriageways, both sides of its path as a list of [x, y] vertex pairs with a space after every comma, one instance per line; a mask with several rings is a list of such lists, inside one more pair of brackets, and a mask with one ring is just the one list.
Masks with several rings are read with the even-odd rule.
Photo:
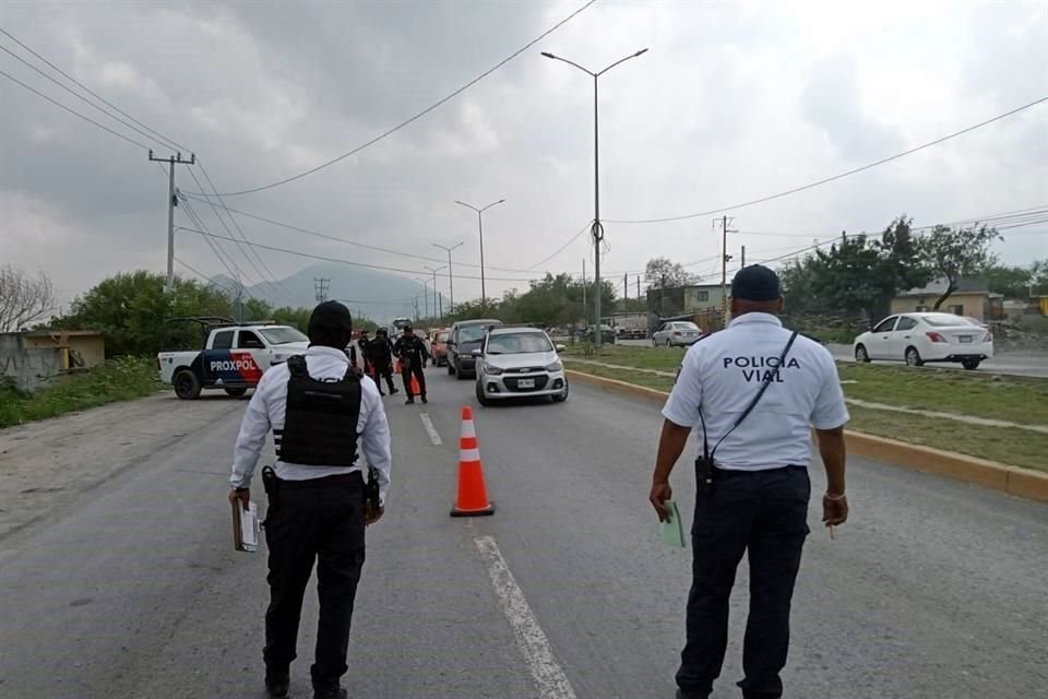
[[[679, 350], [615, 347], [606, 350], [600, 356], [567, 354], [563, 359], [569, 369], [668, 391], [674, 382], [670, 377], [594, 367], [573, 363], [572, 359], [585, 358], [620, 365], [630, 363], [641, 368], [676, 371], [682, 356], [683, 352]], [[856, 381], [844, 386], [845, 394], [850, 398], [1020, 424], [1048, 425], [1046, 379], [848, 364], [838, 364], [838, 369], [842, 380]], [[1045, 457], [1048, 454], [1048, 435], [854, 405], [848, 410], [851, 413], [848, 427], [858, 431], [1048, 471], [1048, 458]]]

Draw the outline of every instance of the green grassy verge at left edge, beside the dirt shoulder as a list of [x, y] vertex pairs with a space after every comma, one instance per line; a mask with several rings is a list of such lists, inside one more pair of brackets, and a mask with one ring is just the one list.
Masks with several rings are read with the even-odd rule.
[[35, 393], [23, 393], [0, 382], [0, 427], [130, 401], [159, 388], [156, 362], [140, 357], [112, 359], [84, 374], [55, 378], [50, 386]]

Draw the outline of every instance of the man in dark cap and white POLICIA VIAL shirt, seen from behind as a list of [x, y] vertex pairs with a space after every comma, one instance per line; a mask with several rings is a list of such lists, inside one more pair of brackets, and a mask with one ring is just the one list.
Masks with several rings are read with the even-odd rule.
[[[822, 345], [783, 328], [782, 310], [772, 270], [740, 270], [731, 283], [734, 320], [692, 345], [663, 408], [650, 496], [663, 521], [669, 519], [664, 503], [672, 497], [669, 475], [692, 428], [700, 440], [678, 699], [706, 699], [720, 674], [728, 599], [743, 553], [750, 562], [750, 614], [739, 687], [746, 699], [783, 695], [790, 599], [809, 533], [812, 427], [826, 470], [822, 520], [835, 526], [848, 516], [844, 425], [849, 416], [837, 369]], [[703, 445], [712, 452], [708, 462]]]

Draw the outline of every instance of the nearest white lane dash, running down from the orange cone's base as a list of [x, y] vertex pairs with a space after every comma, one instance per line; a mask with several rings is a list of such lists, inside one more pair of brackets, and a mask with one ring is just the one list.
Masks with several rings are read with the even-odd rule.
[[527, 605], [524, 593], [502, 558], [499, 545], [495, 543], [495, 537], [478, 536], [473, 542], [488, 568], [491, 584], [495, 585], [495, 592], [502, 604], [502, 613], [513, 628], [516, 644], [532, 671], [538, 696], [541, 699], [575, 699], [575, 690], [557, 662], [549, 639]]

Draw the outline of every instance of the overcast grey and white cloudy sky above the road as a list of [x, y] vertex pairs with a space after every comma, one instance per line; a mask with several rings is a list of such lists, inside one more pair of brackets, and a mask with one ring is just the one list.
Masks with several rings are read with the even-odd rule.
[[[192, 150], [221, 192], [334, 158], [432, 105], [585, 4], [528, 2], [16, 2], [0, 27], [151, 129]], [[0, 46], [45, 66], [0, 34]], [[602, 214], [645, 220], [733, 206], [914, 147], [1048, 96], [1046, 2], [598, 0], [461, 95], [357, 155], [238, 210], [422, 257], [456, 251], [457, 298], [536, 271], [581, 273], [593, 216], [592, 69], [600, 79]], [[0, 70], [167, 155], [0, 52]], [[148, 132], [147, 132], [148, 133]], [[0, 75], [0, 262], [52, 275], [69, 298], [120, 270], [163, 271], [167, 181], [146, 152]], [[181, 166], [184, 191], [201, 191]], [[801, 193], [729, 210], [729, 252], [760, 261], [907, 213], [917, 225], [1048, 204], [1048, 104]], [[203, 223], [228, 235], [203, 203]], [[180, 208], [178, 225], [192, 226]], [[656, 254], [713, 275], [712, 215], [607, 223], [621, 281]], [[238, 216], [259, 244], [426, 274], [417, 258]], [[228, 225], [228, 222], [227, 222]], [[1048, 225], [1005, 232], [1009, 263], [1048, 257]], [[247, 283], [259, 281], [233, 244]], [[260, 250], [266, 276], [311, 260]], [[177, 256], [228, 273], [200, 236]], [[736, 259], [737, 259], [736, 258]], [[541, 263], [541, 264], [539, 264]], [[536, 266], [537, 265], [537, 266]], [[496, 269], [499, 268], [499, 269]], [[347, 270], [350, 268], [347, 268]], [[513, 270], [513, 271], [511, 271]], [[180, 269], [186, 272], [184, 269]], [[514, 281], [517, 280], [517, 281]], [[718, 280], [717, 280], [718, 281]], [[631, 295], [635, 286], [631, 277]]]

